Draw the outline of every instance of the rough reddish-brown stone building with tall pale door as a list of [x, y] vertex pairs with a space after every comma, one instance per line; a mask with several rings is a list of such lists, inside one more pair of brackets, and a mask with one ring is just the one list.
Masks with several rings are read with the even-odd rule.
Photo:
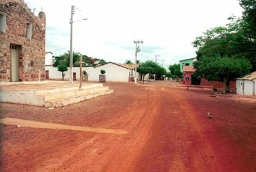
[[45, 14], [0, 0], [0, 82], [44, 80]]

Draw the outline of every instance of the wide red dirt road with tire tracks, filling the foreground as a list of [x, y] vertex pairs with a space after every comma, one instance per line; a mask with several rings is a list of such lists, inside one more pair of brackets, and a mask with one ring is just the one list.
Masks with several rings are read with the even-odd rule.
[[106, 85], [114, 94], [64, 109], [0, 103], [2, 118], [128, 131], [1, 124], [2, 170], [256, 171], [255, 103], [168, 81]]

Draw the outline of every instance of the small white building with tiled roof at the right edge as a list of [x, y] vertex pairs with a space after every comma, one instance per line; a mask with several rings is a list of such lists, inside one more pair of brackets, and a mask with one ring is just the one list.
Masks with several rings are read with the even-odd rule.
[[241, 95], [256, 94], [256, 71], [247, 74], [243, 78], [236, 79], [236, 93]]

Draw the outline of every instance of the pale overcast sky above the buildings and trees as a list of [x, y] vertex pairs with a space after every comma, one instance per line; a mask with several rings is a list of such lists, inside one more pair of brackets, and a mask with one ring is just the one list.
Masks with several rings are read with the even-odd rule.
[[134, 40], [142, 40], [137, 59], [164, 67], [196, 57], [192, 42], [207, 29], [242, 15], [237, 0], [25, 0], [46, 15], [45, 51], [59, 56], [70, 49], [71, 5], [75, 6], [73, 51], [109, 62], [135, 61]]

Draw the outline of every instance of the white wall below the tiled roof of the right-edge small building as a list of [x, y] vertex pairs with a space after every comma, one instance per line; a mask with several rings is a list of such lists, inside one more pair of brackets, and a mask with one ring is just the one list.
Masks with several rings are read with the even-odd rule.
[[[244, 82], [244, 95], [252, 95], [253, 89], [252, 81], [250, 80], [236, 80], [236, 93], [243, 94], [243, 82]], [[241, 85], [242, 83], [242, 85]]]

